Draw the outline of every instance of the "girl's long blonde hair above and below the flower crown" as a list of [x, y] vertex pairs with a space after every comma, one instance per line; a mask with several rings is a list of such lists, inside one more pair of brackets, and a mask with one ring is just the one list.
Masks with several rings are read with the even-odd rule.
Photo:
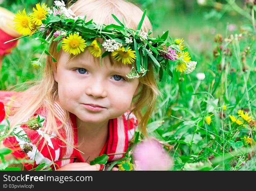
[[[71, 6], [75, 15], [86, 15], [86, 20], [93, 19], [93, 22], [99, 24], [117, 24], [111, 14], [114, 14], [120, 21], [124, 22], [128, 28], [136, 29], [143, 11], [134, 4], [124, 0], [78, 0]], [[99, 14], [100, 11], [100, 14]], [[141, 30], [152, 30], [152, 26], [147, 17], [145, 17]], [[60, 52], [57, 52], [57, 42], [50, 45], [49, 52], [58, 60]], [[140, 78], [140, 91], [134, 97], [131, 104], [131, 112], [136, 115], [139, 121], [139, 127], [143, 134], [147, 136], [146, 126], [154, 110], [159, 90], [155, 81], [154, 69], [149, 63], [149, 71]], [[52, 61], [51, 56], [47, 55], [42, 80], [29, 89], [22, 92], [11, 104], [14, 110], [10, 111], [12, 116], [11, 126], [24, 122], [27, 116], [31, 116], [38, 108], [47, 109], [47, 121], [45, 133], [55, 131], [61, 137], [60, 130], [69, 118], [69, 112], [64, 109], [65, 116], [61, 119], [54, 110], [54, 103], [58, 101], [58, 84], [54, 80], [54, 71], [57, 64]], [[147, 106], [147, 110], [142, 115], [141, 110]], [[56, 124], [56, 119], [60, 120], [62, 125]]]

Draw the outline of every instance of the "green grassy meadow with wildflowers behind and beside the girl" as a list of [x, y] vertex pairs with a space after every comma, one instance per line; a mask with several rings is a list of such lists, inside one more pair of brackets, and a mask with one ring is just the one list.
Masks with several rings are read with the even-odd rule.
[[[173, 77], [164, 73], [158, 80], [162, 95], [147, 133], [168, 151], [170, 170], [255, 170], [256, 5], [234, 0], [133, 2], [147, 9], [154, 35], [168, 30], [171, 38], [183, 38], [191, 60], [197, 61], [190, 74], [176, 72], [173, 65]], [[31, 7], [35, 3], [26, 1]], [[14, 13], [26, 7], [24, 1], [0, 6]], [[0, 90], [24, 90], [19, 84], [40, 79], [41, 69], [29, 60], [40, 56], [40, 43], [20, 39], [3, 60]], [[135, 137], [136, 142], [144, 138], [139, 131]]]

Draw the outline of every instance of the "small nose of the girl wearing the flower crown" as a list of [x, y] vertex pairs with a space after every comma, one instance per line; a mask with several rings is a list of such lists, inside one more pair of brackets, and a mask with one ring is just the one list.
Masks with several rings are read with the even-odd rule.
[[107, 90], [106, 86], [102, 82], [102, 80], [92, 80], [90, 83], [87, 84], [85, 93], [87, 95], [93, 96], [93, 97], [106, 97], [107, 96]]

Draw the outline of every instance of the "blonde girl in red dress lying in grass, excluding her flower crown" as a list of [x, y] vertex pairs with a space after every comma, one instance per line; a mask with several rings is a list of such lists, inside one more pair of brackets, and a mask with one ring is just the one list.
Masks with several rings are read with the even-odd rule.
[[[55, 3], [62, 6], [64, 2]], [[44, 8], [42, 12], [47, 11]], [[78, 0], [71, 10], [74, 15], [86, 15], [86, 21], [118, 25], [113, 14], [134, 30], [143, 16], [137, 6], [123, 0]], [[152, 30], [147, 17], [141, 30], [146, 33]], [[144, 76], [127, 78], [131, 64], [125, 65], [110, 55], [100, 60], [89, 52], [89, 47], [76, 56], [71, 56], [65, 46], [60, 51], [57, 48], [58, 41], [53, 41], [49, 53], [58, 62], [47, 55], [38, 84], [24, 92], [13, 92], [11, 97], [8, 92], [8, 97], [0, 100], [5, 104], [11, 127], [35, 122], [38, 115], [45, 119], [42, 127], [38, 123], [16, 126], [15, 131], [27, 134], [31, 143], [17, 136], [4, 139], [3, 145], [13, 150], [6, 159], [14, 156], [34, 160], [32, 164], [24, 163], [27, 170], [42, 163], [49, 164], [53, 170], [102, 169], [103, 165], [89, 165], [89, 161], [104, 153], [109, 161], [119, 160], [124, 157], [138, 125], [146, 134], [147, 121], [159, 93], [154, 69], [148, 63]]]

